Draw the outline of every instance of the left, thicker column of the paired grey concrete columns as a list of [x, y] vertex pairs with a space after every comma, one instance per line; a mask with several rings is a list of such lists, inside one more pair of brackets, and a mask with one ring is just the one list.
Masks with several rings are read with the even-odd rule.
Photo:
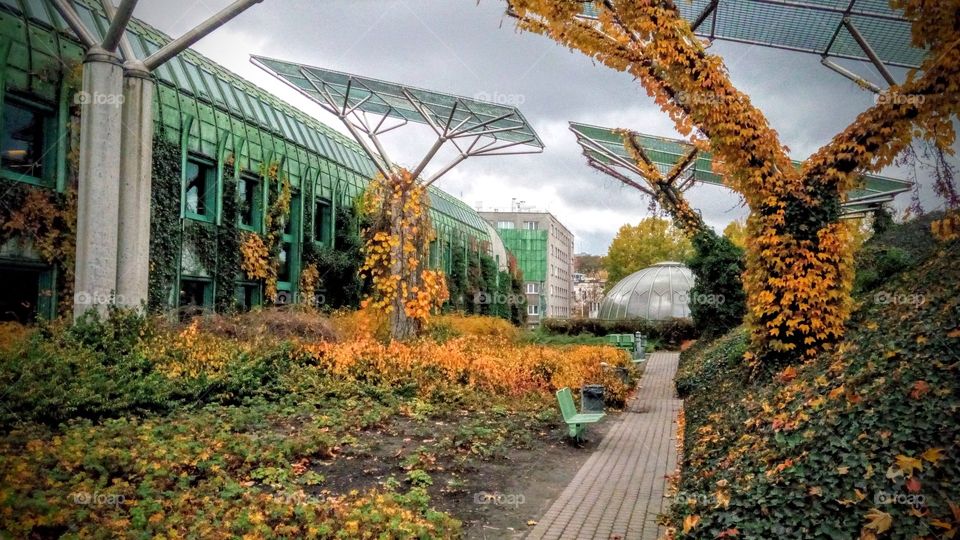
[[116, 54], [97, 47], [83, 62], [74, 316], [105, 313], [117, 283], [123, 69]]

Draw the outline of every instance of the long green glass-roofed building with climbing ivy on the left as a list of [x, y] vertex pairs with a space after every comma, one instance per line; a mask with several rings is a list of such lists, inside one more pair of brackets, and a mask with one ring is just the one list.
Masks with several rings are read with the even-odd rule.
[[[99, 2], [75, 5], [88, 27], [101, 35], [106, 31]], [[127, 38], [141, 57], [170, 41], [138, 20], [131, 21]], [[0, 320], [53, 316], [66, 300], [63, 291], [69, 291], [63, 285], [72, 279], [72, 247], [51, 248], [34, 237], [49, 240], [63, 233], [70, 238], [75, 212], [72, 223], [63, 211], [31, 234], [22, 234], [17, 220], [24, 215], [23, 201], [34, 200], [38, 190], [69, 207], [81, 142], [77, 95], [83, 56], [48, 2], [0, 0]], [[213, 307], [227, 296], [246, 307], [263, 303], [262, 281], [242, 272], [233, 280], [222, 278], [223, 268], [236, 266], [239, 256], [218, 239], [225, 230], [266, 233], [277, 186], [264, 171], [275, 167], [292, 190], [277, 289], [295, 298], [308, 244], [337, 248], [337, 210], [354, 204], [376, 174], [374, 165], [354, 141], [193, 50], [160, 66], [154, 76], [155, 150], [157, 144], [176, 148], [169, 165], [180, 175], [180, 192], [174, 194], [179, 199], [175, 226], [160, 239], [175, 245], [175, 257], [162, 264], [151, 258], [151, 287], [155, 273], [170, 276], [159, 291], [170, 308]], [[155, 160], [155, 191], [160, 189], [156, 171]], [[437, 240], [430, 266], [449, 272], [455, 244], [489, 250], [491, 242], [499, 242], [460, 200], [431, 188], [431, 201]], [[154, 231], [155, 213], [156, 207]]]

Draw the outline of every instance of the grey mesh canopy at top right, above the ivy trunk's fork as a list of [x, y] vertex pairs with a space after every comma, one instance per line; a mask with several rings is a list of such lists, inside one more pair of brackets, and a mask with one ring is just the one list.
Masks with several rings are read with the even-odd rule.
[[[598, 3], [586, 2], [583, 17], [595, 19]], [[888, 66], [917, 68], [927, 54], [911, 45], [910, 21], [888, 0], [684, 0], [676, 6], [699, 36], [817, 54], [826, 67], [874, 92], [881, 89], [832, 59], [870, 62], [892, 86]]]

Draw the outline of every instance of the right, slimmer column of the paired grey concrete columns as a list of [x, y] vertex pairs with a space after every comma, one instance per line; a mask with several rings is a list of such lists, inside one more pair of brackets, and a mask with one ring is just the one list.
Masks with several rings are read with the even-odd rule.
[[117, 303], [130, 308], [146, 303], [150, 278], [153, 92], [153, 79], [143, 64], [128, 62], [123, 77], [116, 290]]

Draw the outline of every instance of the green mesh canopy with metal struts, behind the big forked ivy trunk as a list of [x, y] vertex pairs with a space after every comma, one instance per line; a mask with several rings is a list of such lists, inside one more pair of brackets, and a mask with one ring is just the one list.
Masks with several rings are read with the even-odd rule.
[[[577, 137], [591, 167], [654, 196], [642, 170], [624, 146], [623, 132], [576, 122], [570, 122], [570, 131]], [[696, 182], [724, 185], [723, 178], [713, 172], [710, 153], [699, 152], [692, 144], [678, 139], [639, 133], [631, 135], [649, 162], [680, 191], [689, 189]], [[801, 165], [798, 161], [793, 163], [798, 168]], [[634, 180], [637, 177], [640, 181]], [[884, 176], [863, 175], [862, 178], [861, 186], [850, 191], [842, 203], [845, 218], [862, 217], [912, 187], [910, 182]]]

